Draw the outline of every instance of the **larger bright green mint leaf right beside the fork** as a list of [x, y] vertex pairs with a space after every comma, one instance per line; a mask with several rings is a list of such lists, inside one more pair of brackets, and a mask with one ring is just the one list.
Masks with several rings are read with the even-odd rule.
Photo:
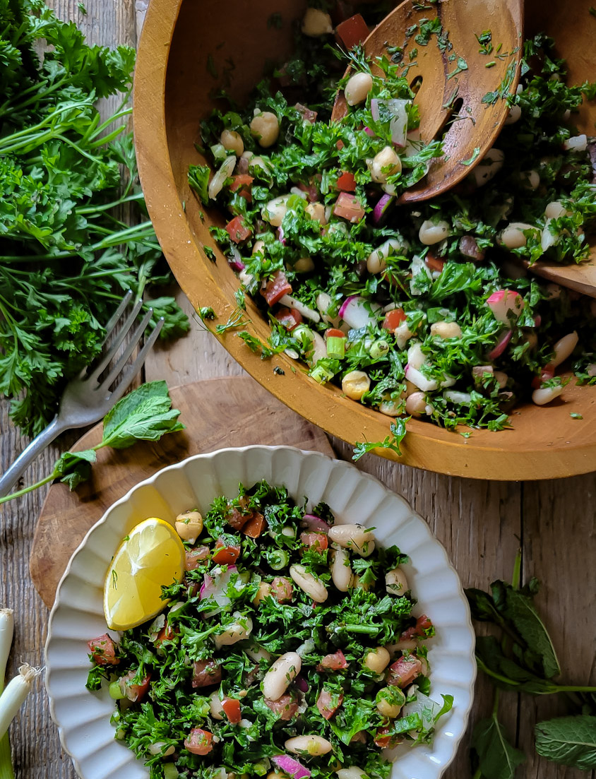
[[126, 449], [137, 439], [158, 441], [164, 433], [183, 430], [180, 411], [171, 407], [166, 382], [148, 382], [125, 395], [104, 419], [101, 446]]

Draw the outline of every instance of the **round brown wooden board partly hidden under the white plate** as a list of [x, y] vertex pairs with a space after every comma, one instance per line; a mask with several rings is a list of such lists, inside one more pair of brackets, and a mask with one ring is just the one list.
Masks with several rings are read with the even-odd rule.
[[[180, 409], [183, 432], [157, 442], [139, 441], [130, 449], [100, 449], [89, 481], [76, 492], [59, 481], [51, 486], [35, 531], [31, 579], [51, 608], [56, 587], [72, 552], [87, 530], [139, 481], [185, 457], [226, 446], [265, 444], [315, 449], [333, 456], [325, 433], [270, 395], [248, 376], [210, 379], [170, 390]], [[72, 447], [88, 449], [101, 441], [101, 423]]]

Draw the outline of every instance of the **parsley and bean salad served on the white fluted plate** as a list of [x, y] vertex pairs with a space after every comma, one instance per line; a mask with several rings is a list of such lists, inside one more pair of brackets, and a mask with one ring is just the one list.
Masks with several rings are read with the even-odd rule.
[[[384, 779], [385, 750], [432, 739], [426, 615], [396, 546], [265, 481], [177, 517], [182, 583], [150, 623], [90, 640], [115, 737], [152, 779]], [[166, 605], [167, 603], [167, 605]]]

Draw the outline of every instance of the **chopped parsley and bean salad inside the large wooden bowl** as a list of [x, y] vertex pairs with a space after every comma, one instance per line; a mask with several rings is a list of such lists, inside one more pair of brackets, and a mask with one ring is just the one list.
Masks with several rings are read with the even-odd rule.
[[[248, 106], [201, 125], [210, 164], [192, 165], [189, 182], [226, 213], [211, 232], [242, 281], [238, 310], [216, 330], [263, 358], [301, 358], [315, 381], [390, 417], [496, 430], [518, 401], [558, 397], [563, 363], [596, 382], [596, 303], [521, 262], [587, 257], [596, 141], [576, 132], [573, 113], [596, 87], [566, 85], [548, 37], [526, 41], [517, 93], [504, 84], [485, 96], [511, 107], [492, 150], [452, 192], [400, 205], [441, 154], [440, 140], [418, 136], [414, 52], [451, 51], [440, 23], [408, 34], [408, 56], [388, 45], [371, 63], [358, 45], [340, 52], [330, 17], [309, 9], [295, 58]], [[490, 30], [478, 41], [488, 65], [499, 42]], [[331, 123], [338, 89], [348, 112]], [[468, 121], [465, 106], [453, 121]], [[244, 328], [245, 293], [270, 320], [267, 344]]]

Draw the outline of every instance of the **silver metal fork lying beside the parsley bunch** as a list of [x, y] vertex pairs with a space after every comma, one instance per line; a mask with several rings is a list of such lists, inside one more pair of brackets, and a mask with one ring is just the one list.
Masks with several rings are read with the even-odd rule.
[[[121, 304], [118, 305], [118, 308], [106, 326], [106, 337], [104, 338], [102, 346], [106, 347], [118, 320], [125, 312], [125, 309], [131, 300], [132, 290], [129, 290], [124, 298], [122, 298]], [[143, 367], [147, 354], [149, 354], [149, 351], [155, 343], [161, 327], [164, 324], [163, 318], [157, 322], [153, 333], [151, 333], [145, 344], [143, 344], [143, 348], [139, 351], [136, 359], [127, 367], [126, 364], [129, 361], [130, 355], [135, 350], [137, 344], [139, 344], [139, 341], [146, 330], [146, 326], [150, 323], [150, 319], [153, 316], [152, 308], [143, 316], [141, 323], [136, 328], [135, 332], [132, 333], [129, 344], [126, 345], [125, 350], [118, 358], [114, 367], [108, 372], [108, 375], [101, 379], [101, 382], [99, 378], [118, 353], [122, 341], [131, 330], [142, 306], [143, 301], [136, 301], [132, 311], [129, 313], [122, 326], [122, 330], [120, 330], [115, 339], [112, 340], [109, 347], [104, 349], [104, 352], [93, 362], [93, 365], [90, 365], [89, 368], [83, 370], [76, 379], [72, 379], [66, 385], [60, 400], [60, 406], [58, 407], [58, 414], [52, 419], [48, 427], [42, 430], [41, 433], [30, 442], [26, 449], [23, 449], [23, 452], [19, 454], [14, 463], [5, 471], [5, 474], [2, 474], [2, 477], [0, 477], [0, 498], [9, 495], [13, 485], [19, 480], [26, 467], [28, 467], [35, 460], [37, 455], [60, 435], [60, 433], [65, 430], [71, 430], [72, 428], [84, 428], [86, 425], [93, 425], [94, 422], [100, 421], [100, 419], [104, 418], [108, 411], [110, 411], [111, 407], [120, 400], [126, 390], [129, 389], [132, 379], [135, 378]], [[118, 376], [122, 376], [121, 381], [114, 390], [110, 390], [111, 385]]]

